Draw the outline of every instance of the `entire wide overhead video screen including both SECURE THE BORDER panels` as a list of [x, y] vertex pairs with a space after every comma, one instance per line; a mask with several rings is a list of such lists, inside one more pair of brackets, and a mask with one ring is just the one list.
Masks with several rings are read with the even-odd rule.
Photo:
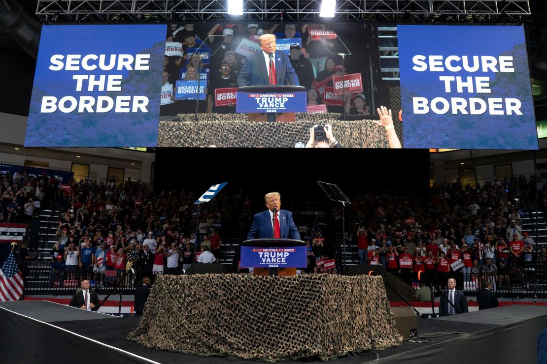
[[524, 39], [518, 26], [44, 25], [25, 146], [537, 149]]

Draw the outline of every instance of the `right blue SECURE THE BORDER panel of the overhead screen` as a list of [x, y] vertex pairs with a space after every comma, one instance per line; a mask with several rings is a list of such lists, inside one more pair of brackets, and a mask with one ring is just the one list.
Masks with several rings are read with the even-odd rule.
[[397, 36], [405, 147], [538, 148], [522, 26], [404, 25]]

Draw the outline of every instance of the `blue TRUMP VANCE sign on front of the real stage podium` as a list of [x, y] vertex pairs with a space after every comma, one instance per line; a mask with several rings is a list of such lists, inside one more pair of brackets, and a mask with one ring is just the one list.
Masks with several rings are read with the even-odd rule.
[[306, 266], [305, 246], [264, 248], [241, 246], [242, 268], [301, 268]]

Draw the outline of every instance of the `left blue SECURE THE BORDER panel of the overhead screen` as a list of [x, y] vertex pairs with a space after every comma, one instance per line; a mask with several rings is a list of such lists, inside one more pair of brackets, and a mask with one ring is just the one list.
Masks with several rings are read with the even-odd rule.
[[44, 25], [25, 146], [156, 146], [165, 31]]

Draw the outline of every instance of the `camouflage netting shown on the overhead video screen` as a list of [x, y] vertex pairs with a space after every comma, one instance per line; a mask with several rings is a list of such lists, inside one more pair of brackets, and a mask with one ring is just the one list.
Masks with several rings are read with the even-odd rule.
[[315, 124], [331, 124], [347, 148], [388, 148], [386, 132], [373, 120], [338, 121], [340, 114], [296, 114], [295, 122], [253, 122], [245, 114], [180, 114], [181, 121], [160, 121], [160, 147], [286, 147], [306, 142]]

